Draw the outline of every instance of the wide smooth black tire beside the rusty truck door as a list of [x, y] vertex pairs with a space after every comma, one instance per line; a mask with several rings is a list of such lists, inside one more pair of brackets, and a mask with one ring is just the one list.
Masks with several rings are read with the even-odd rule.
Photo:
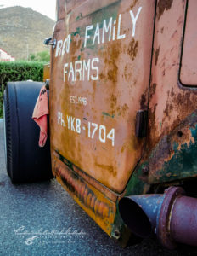
[[10, 82], [4, 91], [5, 154], [12, 183], [53, 177], [49, 134], [46, 145], [40, 148], [40, 128], [31, 119], [41, 87], [38, 82]]

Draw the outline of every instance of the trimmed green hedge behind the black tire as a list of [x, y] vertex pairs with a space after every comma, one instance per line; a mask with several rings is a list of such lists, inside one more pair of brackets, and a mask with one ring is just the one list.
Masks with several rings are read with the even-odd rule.
[[12, 61], [0, 62], [0, 118], [3, 118], [3, 91], [8, 81], [42, 81], [43, 63]]

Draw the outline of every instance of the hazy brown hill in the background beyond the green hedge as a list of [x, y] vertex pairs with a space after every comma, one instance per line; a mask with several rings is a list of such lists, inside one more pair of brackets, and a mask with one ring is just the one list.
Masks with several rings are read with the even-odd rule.
[[16, 60], [27, 60], [31, 53], [49, 50], [44, 38], [52, 36], [54, 21], [31, 8], [0, 9], [0, 48]]

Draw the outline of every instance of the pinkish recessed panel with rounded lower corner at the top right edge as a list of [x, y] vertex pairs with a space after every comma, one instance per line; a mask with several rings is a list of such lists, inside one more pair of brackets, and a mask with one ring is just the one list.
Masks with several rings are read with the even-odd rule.
[[185, 85], [197, 85], [197, 10], [196, 1], [188, 1], [187, 19], [183, 41], [183, 56], [180, 80]]

